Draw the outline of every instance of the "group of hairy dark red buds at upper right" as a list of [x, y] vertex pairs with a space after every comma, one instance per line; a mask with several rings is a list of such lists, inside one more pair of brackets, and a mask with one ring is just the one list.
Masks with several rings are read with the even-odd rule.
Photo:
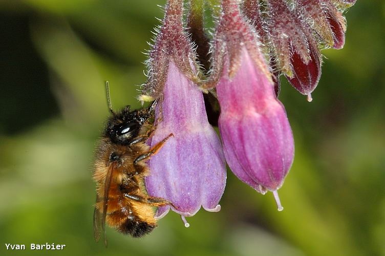
[[266, 5], [261, 6], [259, 0], [245, 0], [242, 10], [261, 36], [265, 54], [272, 55], [277, 66], [272, 67], [273, 72], [284, 73], [310, 101], [321, 75], [322, 55], [318, 48], [344, 46], [346, 20], [342, 12], [354, 3], [266, 0]]

